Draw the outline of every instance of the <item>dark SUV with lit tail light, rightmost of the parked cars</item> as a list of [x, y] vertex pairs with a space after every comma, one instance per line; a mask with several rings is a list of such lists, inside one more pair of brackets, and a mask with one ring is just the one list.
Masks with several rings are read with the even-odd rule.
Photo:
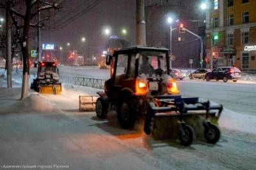
[[223, 80], [227, 82], [228, 80], [233, 80], [236, 82], [241, 79], [241, 71], [237, 67], [218, 67], [211, 72], [205, 74], [205, 80]]

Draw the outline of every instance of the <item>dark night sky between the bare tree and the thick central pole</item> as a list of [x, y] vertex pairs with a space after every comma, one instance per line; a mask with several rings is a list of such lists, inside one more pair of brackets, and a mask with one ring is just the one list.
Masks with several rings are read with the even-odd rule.
[[[51, 24], [47, 23], [51, 26], [47, 26], [46, 29], [50, 28], [51, 31], [42, 32], [42, 43], [52, 42], [57, 46], [63, 46], [63, 50], [72, 48], [81, 51], [87, 48], [86, 43], [81, 43], [81, 37], [85, 37], [89, 41], [90, 50], [95, 55], [100, 55], [103, 50], [106, 50], [106, 41], [109, 38], [103, 34], [103, 29], [110, 27], [111, 35], [120, 36], [134, 45], [136, 36], [135, 0], [103, 0], [73, 22], [60, 29], [54, 29], [53, 24], [60, 24], [60, 21], [67, 20], [79, 11], [84, 11], [93, 1], [95, 0], [66, 1], [63, 8], [56, 12], [56, 16], [51, 18]], [[127, 29], [127, 36], [121, 34], [124, 27]], [[70, 43], [70, 47], [67, 46], [67, 42]]]

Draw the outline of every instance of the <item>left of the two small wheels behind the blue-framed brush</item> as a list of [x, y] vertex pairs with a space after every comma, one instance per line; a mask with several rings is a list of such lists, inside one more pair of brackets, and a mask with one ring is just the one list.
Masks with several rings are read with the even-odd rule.
[[184, 133], [179, 132], [179, 139], [180, 139], [180, 143], [181, 145], [184, 146], [189, 146], [191, 145], [191, 143], [193, 143], [194, 138], [195, 138], [195, 132], [193, 127], [189, 126], [189, 125], [184, 125], [182, 127]]

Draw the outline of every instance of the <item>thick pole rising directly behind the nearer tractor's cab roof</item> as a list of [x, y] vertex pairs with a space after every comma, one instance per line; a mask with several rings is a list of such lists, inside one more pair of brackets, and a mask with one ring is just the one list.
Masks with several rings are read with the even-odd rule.
[[137, 45], [146, 45], [144, 0], [136, 0], [136, 38]]

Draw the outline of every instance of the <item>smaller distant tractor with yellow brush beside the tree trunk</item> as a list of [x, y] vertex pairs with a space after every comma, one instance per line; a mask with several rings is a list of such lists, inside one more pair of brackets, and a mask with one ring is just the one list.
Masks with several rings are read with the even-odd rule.
[[31, 83], [31, 89], [42, 94], [61, 94], [59, 71], [55, 62], [42, 61], [38, 65], [37, 76]]

